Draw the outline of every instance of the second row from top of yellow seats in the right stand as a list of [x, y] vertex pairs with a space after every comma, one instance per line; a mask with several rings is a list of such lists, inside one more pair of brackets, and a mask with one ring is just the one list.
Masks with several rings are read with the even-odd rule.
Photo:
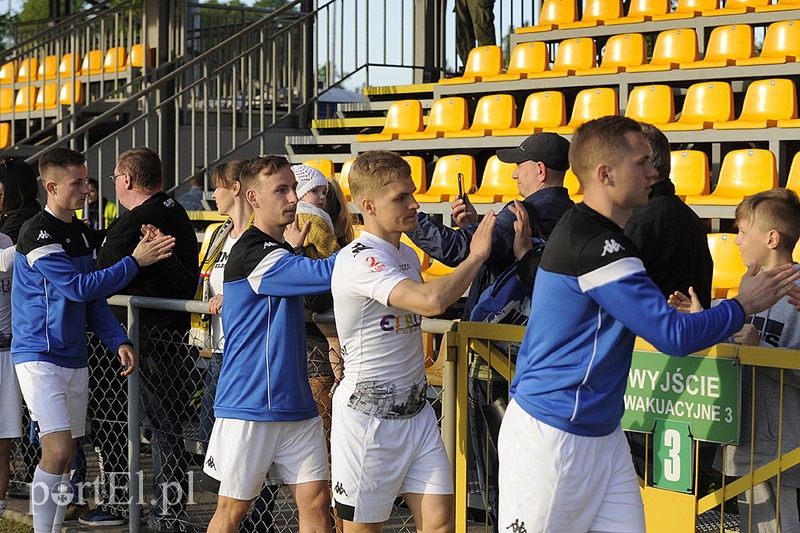
[[442, 85], [519, 79], [592, 76], [618, 72], [655, 72], [673, 69], [768, 65], [797, 61], [800, 57], [800, 21], [784, 20], [767, 28], [761, 53], [754, 57], [753, 29], [748, 24], [719, 26], [711, 31], [703, 59], [699, 59], [697, 33], [690, 28], [658, 34], [648, 63], [645, 39], [640, 33], [614, 35], [608, 39], [600, 65], [591, 37], [565, 39], [558, 44], [550, 66], [544, 42], [519, 43], [514, 47], [508, 70], [503, 72], [499, 46], [480, 46], [470, 51], [464, 75], [439, 80]]

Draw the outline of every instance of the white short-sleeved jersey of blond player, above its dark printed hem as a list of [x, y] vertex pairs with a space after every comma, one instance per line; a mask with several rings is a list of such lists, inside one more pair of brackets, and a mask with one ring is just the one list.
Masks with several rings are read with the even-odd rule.
[[365, 382], [403, 390], [425, 381], [421, 317], [388, 306], [405, 279], [422, 282], [419, 258], [405, 244], [398, 250], [362, 231], [336, 256], [331, 289], [348, 394]]

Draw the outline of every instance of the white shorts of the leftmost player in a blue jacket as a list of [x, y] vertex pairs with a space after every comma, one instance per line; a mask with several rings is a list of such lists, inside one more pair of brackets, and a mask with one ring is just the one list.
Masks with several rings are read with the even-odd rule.
[[16, 365], [19, 388], [31, 418], [39, 423], [39, 436], [70, 431], [72, 438], [86, 434], [89, 369], [66, 368], [30, 361]]

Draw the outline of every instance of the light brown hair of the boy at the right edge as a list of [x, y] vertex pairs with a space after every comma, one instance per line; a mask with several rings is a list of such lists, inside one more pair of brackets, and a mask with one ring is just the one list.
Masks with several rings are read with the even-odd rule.
[[800, 199], [789, 189], [770, 189], [748, 196], [736, 207], [736, 221], [746, 220], [781, 236], [778, 249], [792, 253], [800, 238]]

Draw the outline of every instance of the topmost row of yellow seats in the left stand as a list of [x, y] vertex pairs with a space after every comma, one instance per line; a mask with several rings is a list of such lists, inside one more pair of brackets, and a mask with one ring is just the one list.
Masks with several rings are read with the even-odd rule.
[[0, 66], [0, 85], [25, 81], [54, 80], [72, 76], [87, 76], [103, 72], [119, 72], [131, 67], [150, 66], [150, 48], [141, 44], [131, 47], [130, 55], [124, 46], [102, 50], [89, 50], [81, 58], [80, 54], [68, 53], [59, 58], [48, 55], [40, 62], [38, 57], [28, 57], [21, 61], [9, 61]]

